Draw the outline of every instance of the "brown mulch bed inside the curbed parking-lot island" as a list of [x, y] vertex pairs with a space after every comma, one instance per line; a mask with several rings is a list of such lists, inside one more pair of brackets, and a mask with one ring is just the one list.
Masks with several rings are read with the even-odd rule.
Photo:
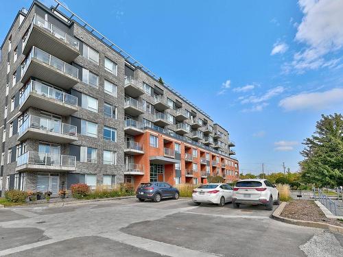
[[322, 223], [329, 223], [331, 225], [339, 225], [343, 227], [343, 221], [339, 221], [338, 219], [329, 219], [325, 217], [322, 210], [320, 210], [317, 204], [312, 200], [290, 201], [285, 206], [280, 216], [288, 219], [316, 221]]

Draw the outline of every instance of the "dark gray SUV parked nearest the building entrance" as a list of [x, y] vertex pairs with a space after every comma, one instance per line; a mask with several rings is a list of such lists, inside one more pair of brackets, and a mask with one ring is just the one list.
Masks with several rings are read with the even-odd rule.
[[142, 183], [137, 188], [136, 197], [139, 201], [145, 199], [152, 199], [156, 202], [161, 201], [162, 198], [178, 199], [180, 193], [178, 188], [169, 185], [166, 182], [148, 182]]

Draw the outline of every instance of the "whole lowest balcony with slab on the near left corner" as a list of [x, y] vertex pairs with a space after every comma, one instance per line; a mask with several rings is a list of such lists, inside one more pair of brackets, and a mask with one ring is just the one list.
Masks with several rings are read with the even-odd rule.
[[27, 151], [16, 160], [16, 171], [75, 171], [76, 157]]

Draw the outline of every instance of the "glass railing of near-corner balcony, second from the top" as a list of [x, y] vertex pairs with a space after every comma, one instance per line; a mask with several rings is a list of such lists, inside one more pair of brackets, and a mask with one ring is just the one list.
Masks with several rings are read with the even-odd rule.
[[37, 47], [32, 47], [29, 55], [27, 56], [26, 60], [21, 65], [21, 75], [24, 75], [25, 71], [27, 70], [29, 63], [31, 62], [32, 58], [36, 58], [45, 64], [50, 66], [54, 66], [58, 71], [63, 73], [67, 73], [76, 79], [79, 78], [79, 70], [78, 68], [68, 64], [67, 62], [63, 62], [62, 60], [56, 58], [55, 56], [51, 56], [51, 54], [46, 53], [43, 50], [40, 50]]

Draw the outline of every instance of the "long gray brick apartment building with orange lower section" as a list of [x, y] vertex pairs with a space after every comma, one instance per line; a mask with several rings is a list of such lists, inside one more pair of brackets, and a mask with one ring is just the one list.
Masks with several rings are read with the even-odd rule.
[[3, 40], [1, 194], [236, 180], [228, 132], [76, 17], [34, 1]]

